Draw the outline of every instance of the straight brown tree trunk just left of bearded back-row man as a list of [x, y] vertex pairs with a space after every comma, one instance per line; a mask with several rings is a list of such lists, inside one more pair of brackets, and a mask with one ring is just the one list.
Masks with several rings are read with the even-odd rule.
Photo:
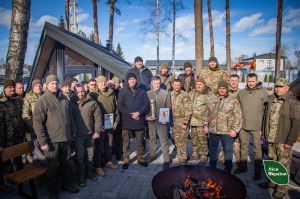
[[203, 18], [202, 0], [194, 1], [195, 15], [195, 54], [196, 54], [196, 77], [199, 77], [203, 68]]

